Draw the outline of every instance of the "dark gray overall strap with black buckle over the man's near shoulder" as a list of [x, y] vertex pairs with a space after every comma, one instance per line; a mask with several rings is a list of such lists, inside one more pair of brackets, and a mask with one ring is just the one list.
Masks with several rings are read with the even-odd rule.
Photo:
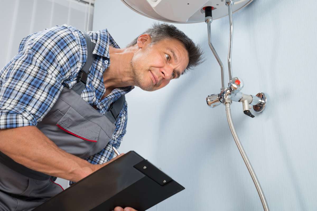
[[82, 32], [85, 35], [86, 45], [87, 45], [87, 57], [86, 62], [82, 69], [79, 71], [77, 76], [77, 83], [72, 87], [72, 90], [75, 91], [77, 94], [81, 94], [82, 90], [85, 88], [88, 72], [93, 64], [95, 55], [93, 54], [94, 48], [96, 44], [94, 44], [91, 40], [89, 35], [86, 32]]

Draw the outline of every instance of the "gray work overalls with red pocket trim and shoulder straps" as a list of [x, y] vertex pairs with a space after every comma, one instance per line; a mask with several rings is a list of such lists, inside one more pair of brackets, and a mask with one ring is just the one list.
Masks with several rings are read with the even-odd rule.
[[[83, 34], [87, 43], [87, 59], [78, 74], [77, 84], [72, 89], [63, 88], [52, 109], [36, 127], [59, 148], [87, 158], [100, 152], [111, 139], [125, 96], [114, 102], [105, 115], [81, 98], [94, 60], [92, 52], [95, 46], [89, 36]], [[22, 166], [0, 152], [0, 211], [29, 211], [36, 208], [63, 190], [54, 183], [55, 179]]]

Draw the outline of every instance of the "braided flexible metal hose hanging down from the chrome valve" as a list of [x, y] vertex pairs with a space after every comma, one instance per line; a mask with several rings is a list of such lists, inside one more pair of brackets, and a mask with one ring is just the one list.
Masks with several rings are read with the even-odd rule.
[[249, 173], [250, 173], [250, 175], [252, 177], [252, 180], [253, 180], [253, 182], [254, 182], [254, 184], [256, 186], [256, 190], [257, 190], [257, 192], [258, 192], [258, 194], [260, 196], [264, 211], [269, 211], [268, 203], [266, 202], [266, 199], [265, 199], [264, 193], [262, 191], [261, 185], [260, 185], [259, 181], [256, 178], [256, 174], [253, 171], [253, 168], [252, 168], [252, 166], [250, 164], [250, 161], [249, 161], [247, 155], [244, 152], [244, 149], [243, 149], [243, 147], [242, 147], [242, 145], [240, 143], [239, 137], [236, 134], [236, 130], [235, 130], [234, 126], [233, 126], [233, 122], [232, 122], [232, 118], [231, 118], [230, 103], [226, 103], [226, 113], [227, 113], [227, 120], [228, 120], [228, 124], [229, 124], [230, 130], [231, 130], [232, 136], [233, 136], [233, 138], [234, 138], [234, 140], [236, 142], [236, 145], [237, 145], [237, 147], [238, 147], [238, 149], [240, 151], [240, 154], [241, 154], [241, 156], [242, 156], [242, 158], [244, 160], [244, 163], [245, 163], [245, 165], [247, 166], [247, 168], [249, 170]]

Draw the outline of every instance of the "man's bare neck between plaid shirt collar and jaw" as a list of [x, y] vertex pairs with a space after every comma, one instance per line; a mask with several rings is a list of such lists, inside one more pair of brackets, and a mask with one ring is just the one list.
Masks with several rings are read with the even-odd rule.
[[133, 47], [120, 49], [109, 46], [110, 66], [103, 74], [106, 93], [101, 99], [105, 98], [115, 88], [134, 85], [131, 71], [133, 50]]

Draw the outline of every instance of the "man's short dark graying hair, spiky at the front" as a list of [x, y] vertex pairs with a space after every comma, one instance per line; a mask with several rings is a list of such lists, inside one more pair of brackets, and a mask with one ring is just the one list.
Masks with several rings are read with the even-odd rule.
[[[186, 51], [188, 52], [189, 62], [188, 65], [183, 72], [187, 72], [187, 70], [192, 69], [193, 67], [204, 62], [203, 59], [203, 51], [200, 46], [195, 44], [189, 37], [187, 37], [182, 31], [176, 28], [174, 25], [166, 24], [166, 23], [154, 23], [151, 28], [148, 28], [142, 34], [150, 34], [152, 37], [152, 43], [157, 43], [163, 39], [177, 39], [181, 43], [183, 43]], [[127, 47], [131, 47], [137, 44], [138, 38], [135, 38]]]

